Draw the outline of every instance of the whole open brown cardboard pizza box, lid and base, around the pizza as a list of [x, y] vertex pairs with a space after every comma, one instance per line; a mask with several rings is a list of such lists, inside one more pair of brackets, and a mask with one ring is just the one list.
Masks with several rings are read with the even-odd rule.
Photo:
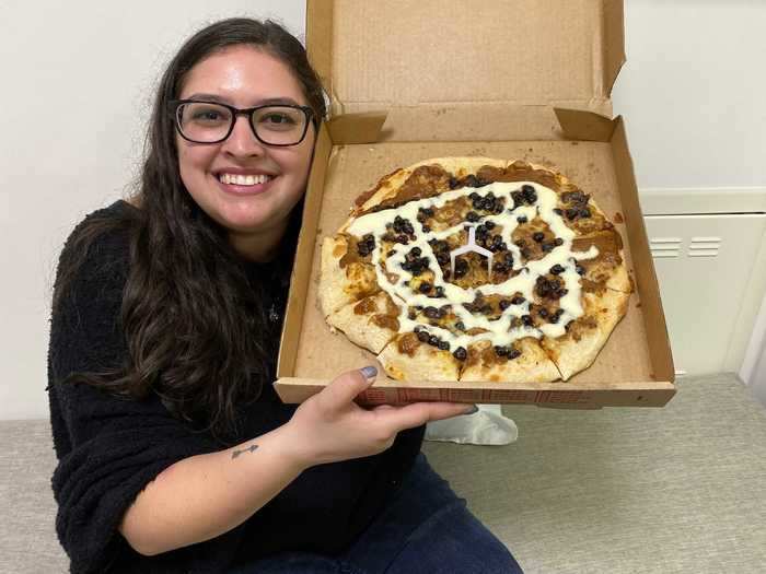
[[[450, 400], [549, 407], [665, 405], [673, 360], [625, 122], [611, 91], [625, 61], [615, 0], [309, 0], [306, 44], [329, 93], [305, 197], [275, 387], [301, 402], [339, 373], [379, 367], [367, 403]], [[525, 160], [560, 171], [615, 223], [636, 291], [594, 364], [546, 384], [398, 382], [332, 332], [320, 248], [353, 199], [429, 157]]]

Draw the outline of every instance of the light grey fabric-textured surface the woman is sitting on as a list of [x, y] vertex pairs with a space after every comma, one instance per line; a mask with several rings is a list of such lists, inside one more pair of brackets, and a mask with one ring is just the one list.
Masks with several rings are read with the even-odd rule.
[[[733, 375], [663, 409], [506, 413], [514, 444], [423, 450], [527, 574], [766, 573], [766, 410]], [[0, 421], [0, 573], [68, 570], [49, 433]]]

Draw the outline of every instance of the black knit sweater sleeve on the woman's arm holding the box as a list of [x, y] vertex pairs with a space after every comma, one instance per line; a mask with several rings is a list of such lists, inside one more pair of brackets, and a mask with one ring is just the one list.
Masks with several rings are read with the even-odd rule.
[[[70, 237], [59, 274], [71, 250]], [[53, 477], [56, 529], [73, 573], [132, 571], [127, 564], [144, 561], [142, 572], [204, 571], [206, 561], [235, 553], [236, 529], [213, 541], [146, 559], [127, 544], [118, 526], [136, 496], [162, 470], [220, 446], [173, 418], [153, 395], [144, 400], [119, 399], [88, 384], [65, 382], [72, 373], [97, 373], [126, 360], [120, 307], [128, 254], [127, 232], [96, 239], [51, 315], [48, 391], [59, 459]]]

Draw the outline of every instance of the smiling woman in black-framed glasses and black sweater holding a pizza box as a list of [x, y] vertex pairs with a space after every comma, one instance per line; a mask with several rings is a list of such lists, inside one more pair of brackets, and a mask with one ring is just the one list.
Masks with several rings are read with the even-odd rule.
[[362, 409], [374, 367], [298, 408], [270, 386], [324, 116], [295, 38], [213, 24], [162, 78], [137, 196], [67, 242], [48, 390], [72, 572], [518, 569], [419, 455], [464, 405]]

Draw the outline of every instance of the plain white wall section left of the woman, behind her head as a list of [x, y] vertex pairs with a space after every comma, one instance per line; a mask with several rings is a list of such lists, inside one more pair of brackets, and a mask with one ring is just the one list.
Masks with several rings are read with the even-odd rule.
[[0, 2], [0, 420], [47, 417], [51, 283], [82, 216], [137, 173], [152, 90], [220, 17], [304, 30], [303, 0]]

